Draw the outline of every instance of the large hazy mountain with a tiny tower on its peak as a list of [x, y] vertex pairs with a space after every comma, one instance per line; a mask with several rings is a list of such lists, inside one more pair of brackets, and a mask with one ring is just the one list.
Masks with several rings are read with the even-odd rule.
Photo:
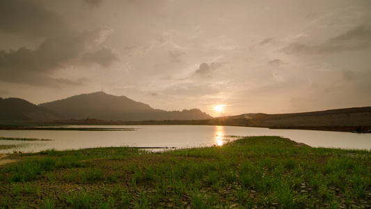
[[199, 109], [164, 111], [125, 96], [102, 91], [75, 95], [63, 100], [39, 104], [55, 111], [63, 119], [97, 118], [106, 121], [203, 120], [212, 116]]

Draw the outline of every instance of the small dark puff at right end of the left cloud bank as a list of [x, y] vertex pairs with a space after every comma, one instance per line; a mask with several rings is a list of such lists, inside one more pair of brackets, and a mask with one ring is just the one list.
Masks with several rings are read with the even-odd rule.
[[112, 49], [102, 47], [95, 52], [86, 52], [82, 56], [82, 60], [88, 63], [97, 63], [102, 67], [109, 67], [113, 62], [120, 61], [120, 57]]

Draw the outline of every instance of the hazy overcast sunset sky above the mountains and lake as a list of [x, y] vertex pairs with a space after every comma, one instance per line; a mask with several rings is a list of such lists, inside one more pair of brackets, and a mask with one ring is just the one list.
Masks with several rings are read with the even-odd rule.
[[[0, 0], [0, 97], [211, 116], [371, 106], [369, 0]], [[215, 107], [218, 107], [215, 109]]]

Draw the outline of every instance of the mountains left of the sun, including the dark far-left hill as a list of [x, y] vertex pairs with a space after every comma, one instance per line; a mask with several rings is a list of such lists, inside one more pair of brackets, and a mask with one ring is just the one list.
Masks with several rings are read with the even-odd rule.
[[[2, 108], [3, 107], [3, 108]], [[203, 120], [212, 116], [199, 109], [164, 111], [125, 96], [104, 92], [75, 95], [63, 100], [31, 104], [26, 100], [0, 100], [0, 121], [55, 121], [97, 118], [105, 121]]]

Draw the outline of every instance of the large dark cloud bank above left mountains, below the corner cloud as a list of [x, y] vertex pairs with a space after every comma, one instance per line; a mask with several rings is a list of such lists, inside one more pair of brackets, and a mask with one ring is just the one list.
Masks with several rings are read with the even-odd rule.
[[0, 51], [0, 80], [35, 86], [81, 84], [68, 79], [54, 79], [50, 75], [72, 64], [90, 62], [106, 66], [116, 61], [118, 56], [106, 47], [90, 52], [111, 32], [108, 27], [100, 27], [83, 33], [62, 33], [48, 38], [37, 49], [21, 47], [9, 52]]

